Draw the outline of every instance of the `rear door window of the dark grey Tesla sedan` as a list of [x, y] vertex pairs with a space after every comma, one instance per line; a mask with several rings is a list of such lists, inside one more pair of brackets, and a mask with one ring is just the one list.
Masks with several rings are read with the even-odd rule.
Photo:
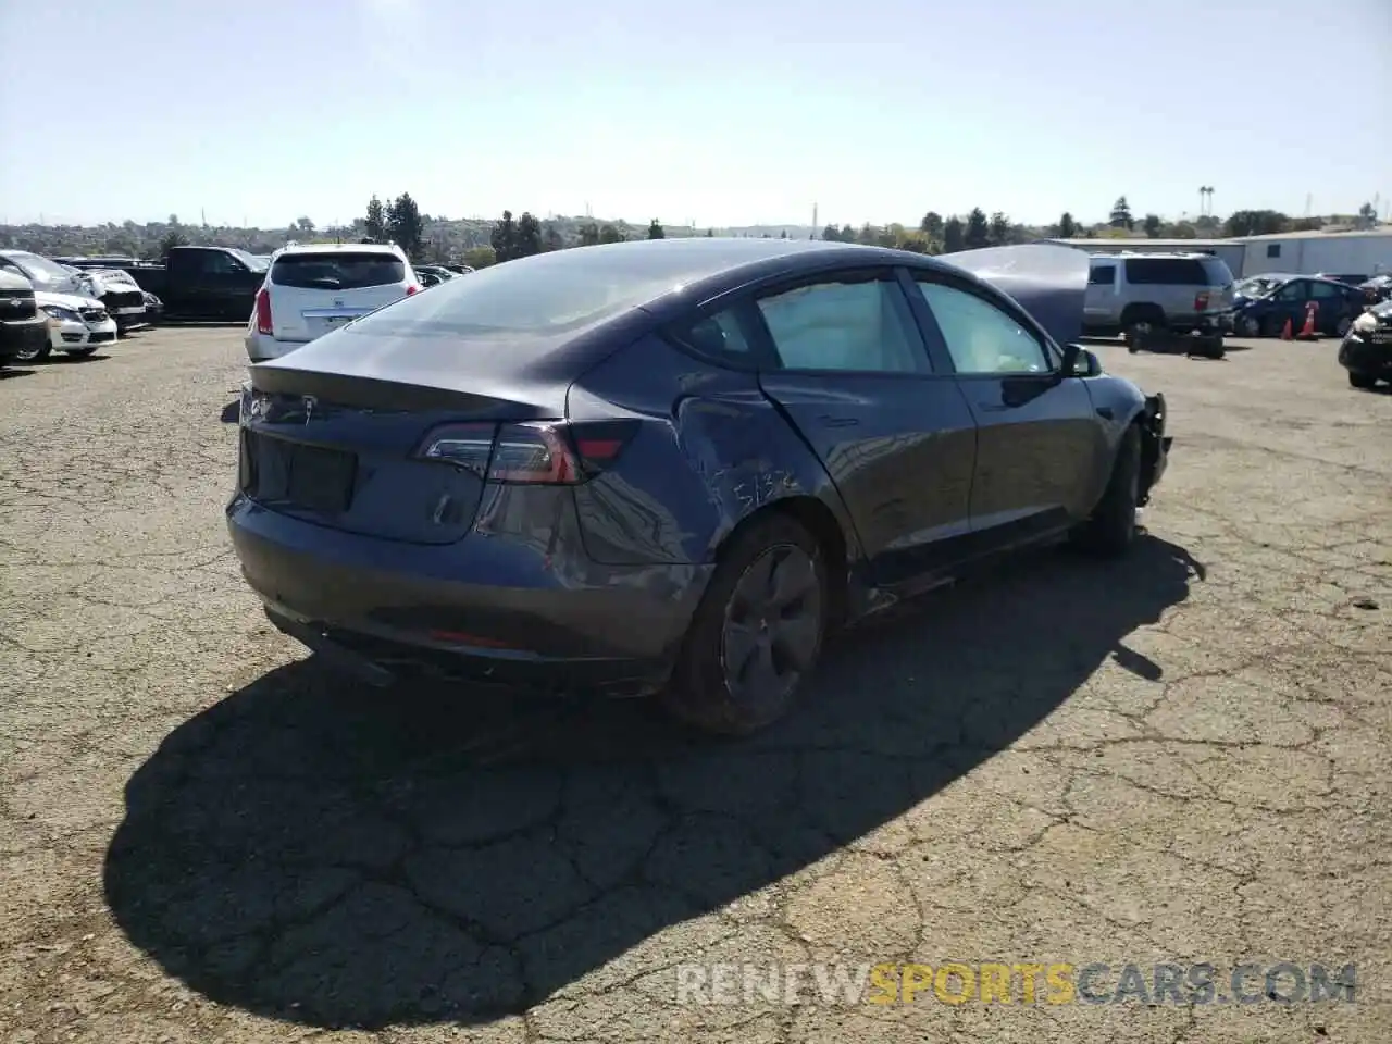
[[930, 370], [909, 302], [891, 278], [814, 283], [757, 306], [784, 369]]

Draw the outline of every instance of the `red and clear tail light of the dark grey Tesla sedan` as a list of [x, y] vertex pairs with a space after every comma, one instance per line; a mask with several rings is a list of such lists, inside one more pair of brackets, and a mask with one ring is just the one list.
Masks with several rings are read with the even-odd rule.
[[444, 425], [425, 437], [415, 455], [487, 482], [574, 486], [614, 464], [636, 432], [636, 420]]

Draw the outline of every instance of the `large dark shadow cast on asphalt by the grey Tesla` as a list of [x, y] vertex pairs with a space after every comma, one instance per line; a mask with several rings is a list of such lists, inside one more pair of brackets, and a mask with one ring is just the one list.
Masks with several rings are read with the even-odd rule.
[[489, 1022], [898, 818], [1104, 661], [1161, 678], [1125, 639], [1203, 576], [1150, 536], [1118, 562], [1015, 561], [835, 643], [799, 710], [743, 741], [644, 700], [384, 695], [291, 663], [135, 771], [106, 898], [220, 1004]]

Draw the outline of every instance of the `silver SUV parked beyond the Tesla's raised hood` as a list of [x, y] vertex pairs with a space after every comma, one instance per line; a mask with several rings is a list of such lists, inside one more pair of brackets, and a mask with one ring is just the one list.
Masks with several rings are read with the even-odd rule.
[[1211, 253], [1094, 253], [1083, 329], [1093, 337], [1122, 334], [1129, 347], [1162, 331], [1221, 337], [1232, 283], [1232, 270]]

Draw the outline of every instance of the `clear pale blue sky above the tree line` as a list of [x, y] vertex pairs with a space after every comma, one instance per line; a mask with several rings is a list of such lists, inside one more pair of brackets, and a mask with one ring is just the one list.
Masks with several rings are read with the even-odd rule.
[[0, 0], [0, 39], [10, 223], [1392, 210], [1392, 0]]

